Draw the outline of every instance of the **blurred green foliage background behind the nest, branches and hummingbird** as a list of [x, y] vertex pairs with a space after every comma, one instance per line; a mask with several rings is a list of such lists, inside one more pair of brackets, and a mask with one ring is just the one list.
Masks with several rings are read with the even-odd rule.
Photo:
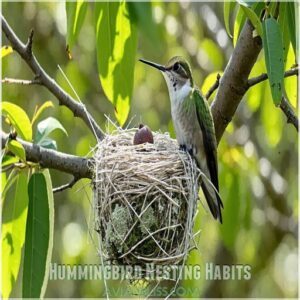
[[[45, 70], [68, 92], [57, 65], [66, 72], [87, 109], [105, 130], [105, 115], [114, 119], [114, 108], [100, 86], [93, 27], [92, 3], [79, 38], [66, 52], [65, 3], [3, 3], [3, 15], [22, 41], [35, 30], [33, 50]], [[224, 70], [233, 44], [223, 21], [223, 3], [158, 3], [153, 6], [158, 43], [147, 32], [139, 32], [131, 111], [125, 126], [147, 124], [153, 131], [169, 131], [174, 137], [170, 103], [163, 77], [138, 62], [143, 57], [166, 63], [174, 55], [186, 57], [195, 82], [205, 93], [216, 74]], [[3, 37], [2, 43], [7, 44]], [[294, 64], [290, 47], [286, 69]], [[251, 75], [265, 72], [262, 53]], [[2, 61], [2, 77], [31, 79], [32, 73], [13, 53]], [[124, 75], [126, 80], [126, 75]], [[297, 79], [285, 79], [289, 99], [297, 109]], [[44, 113], [54, 116], [68, 132], [54, 137], [58, 150], [89, 155], [95, 139], [86, 125], [40, 86], [2, 86], [2, 100], [20, 105], [33, 115], [36, 105], [51, 100], [55, 108]], [[212, 97], [213, 98], [213, 97]], [[188, 263], [248, 264], [251, 280], [199, 281], [181, 284], [189, 295], [198, 297], [296, 297], [298, 236], [298, 136], [272, 103], [267, 82], [248, 91], [219, 145], [220, 194], [224, 201], [224, 224], [215, 222], [199, 205], [196, 228], [201, 229], [199, 250]], [[53, 186], [71, 177], [51, 171]], [[98, 264], [97, 238], [93, 232], [91, 189], [81, 180], [71, 190], [55, 195], [55, 236], [52, 262]], [[21, 274], [22, 272], [20, 272]], [[20, 277], [19, 274], [19, 277]], [[3, 274], [5, 276], [5, 274]], [[127, 283], [123, 283], [126, 286]], [[12, 296], [19, 295], [17, 287]], [[103, 282], [49, 281], [46, 297], [101, 297]], [[186, 295], [188, 296], [188, 295]]]

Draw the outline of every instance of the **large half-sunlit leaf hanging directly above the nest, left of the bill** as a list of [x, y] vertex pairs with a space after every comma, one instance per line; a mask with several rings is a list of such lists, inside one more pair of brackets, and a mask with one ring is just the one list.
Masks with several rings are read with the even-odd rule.
[[124, 125], [133, 89], [137, 32], [125, 1], [96, 2], [97, 62], [102, 88]]

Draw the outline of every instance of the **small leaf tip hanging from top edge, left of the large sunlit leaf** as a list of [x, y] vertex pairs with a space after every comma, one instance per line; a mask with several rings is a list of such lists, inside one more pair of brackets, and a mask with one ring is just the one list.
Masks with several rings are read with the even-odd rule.
[[66, 1], [67, 45], [70, 48], [73, 47], [78, 37], [86, 15], [87, 7], [87, 1]]

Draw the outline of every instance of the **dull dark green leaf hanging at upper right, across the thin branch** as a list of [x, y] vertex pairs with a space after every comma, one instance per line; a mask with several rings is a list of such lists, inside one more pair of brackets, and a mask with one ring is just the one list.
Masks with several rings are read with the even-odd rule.
[[274, 18], [263, 21], [263, 47], [273, 102], [279, 105], [283, 92], [283, 44], [279, 24]]

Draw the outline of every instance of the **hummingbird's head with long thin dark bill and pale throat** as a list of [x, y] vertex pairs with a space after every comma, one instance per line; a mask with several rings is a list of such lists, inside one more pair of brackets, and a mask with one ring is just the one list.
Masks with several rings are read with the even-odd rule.
[[175, 56], [165, 66], [144, 59], [140, 59], [140, 61], [162, 72], [167, 82], [171, 99], [173, 98], [172, 95], [181, 95], [183, 93], [182, 96], [185, 96], [185, 93], [193, 88], [191, 68], [183, 57]]

